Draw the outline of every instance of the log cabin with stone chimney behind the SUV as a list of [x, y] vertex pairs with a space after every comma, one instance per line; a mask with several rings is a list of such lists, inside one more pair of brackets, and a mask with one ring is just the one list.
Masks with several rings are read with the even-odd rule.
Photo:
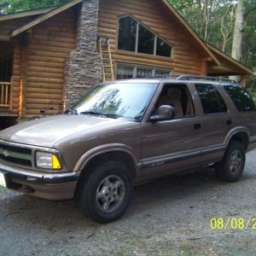
[[253, 71], [205, 43], [167, 0], [72, 0], [0, 15], [0, 129], [70, 108], [101, 81]]

